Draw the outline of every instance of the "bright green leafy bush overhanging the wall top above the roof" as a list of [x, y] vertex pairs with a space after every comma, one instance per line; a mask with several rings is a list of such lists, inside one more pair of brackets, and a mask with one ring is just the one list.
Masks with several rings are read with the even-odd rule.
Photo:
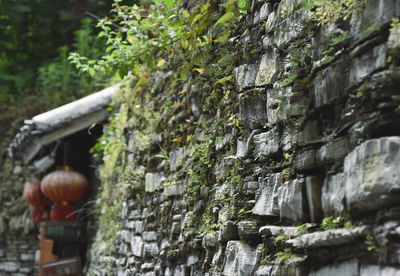
[[[180, 2], [150, 1], [147, 6], [124, 6], [116, 1], [113, 17], [104, 18], [97, 25], [101, 29], [98, 36], [106, 39], [106, 55], [90, 59], [72, 53], [70, 60], [81, 71], [118, 72], [123, 78], [128, 72], [137, 74], [142, 65], [151, 70], [164, 68], [173, 62], [173, 57], [180, 56], [189, 63], [182, 63], [181, 77], [190, 69], [203, 74], [199, 53], [213, 41], [224, 42], [229, 37], [225, 26], [239, 19], [235, 15], [243, 12], [246, 2], [231, 0], [221, 4], [225, 9], [222, 16], [215, 4], [200, 2], [189, 12], [179, 7]], [[211, 35], [207, 33], [209, 28], [215, 29]]]

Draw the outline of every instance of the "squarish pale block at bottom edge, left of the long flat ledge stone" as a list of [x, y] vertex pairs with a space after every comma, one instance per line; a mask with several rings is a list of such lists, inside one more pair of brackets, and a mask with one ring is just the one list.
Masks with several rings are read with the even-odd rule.
[[226, 245], [223, 275], [252, 275], [257, 269], [259, 258], [257, 247], [240, 241], [229, 241]]

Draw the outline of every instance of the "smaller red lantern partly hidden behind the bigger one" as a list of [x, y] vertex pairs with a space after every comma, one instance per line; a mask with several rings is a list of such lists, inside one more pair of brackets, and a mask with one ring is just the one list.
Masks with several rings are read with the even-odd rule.
[[49, 213], [44, 207], [50, 206], [51, 201], [42, 193], [40, 189], [40, 180], [25, 185], [23, 198], [33, 206], [33, 222], [45, 221], [48, 219]]

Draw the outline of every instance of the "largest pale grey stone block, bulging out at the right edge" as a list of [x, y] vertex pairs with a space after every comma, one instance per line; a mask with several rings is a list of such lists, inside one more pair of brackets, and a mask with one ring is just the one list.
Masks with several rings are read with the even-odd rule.
[[345, 159], [345, 192], [349, 211], [378, 210], [400, 199], [400, 137], [364, 142]]

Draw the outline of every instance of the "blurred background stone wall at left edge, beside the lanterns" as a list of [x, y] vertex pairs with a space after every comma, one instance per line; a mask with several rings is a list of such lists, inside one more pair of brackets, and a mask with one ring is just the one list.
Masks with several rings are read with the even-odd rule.
[[9, 158], [0, 165], [0, 275], [34, 275], [38, 231], [22, 192], [25, 183], [34, 180], [35, 170]]

